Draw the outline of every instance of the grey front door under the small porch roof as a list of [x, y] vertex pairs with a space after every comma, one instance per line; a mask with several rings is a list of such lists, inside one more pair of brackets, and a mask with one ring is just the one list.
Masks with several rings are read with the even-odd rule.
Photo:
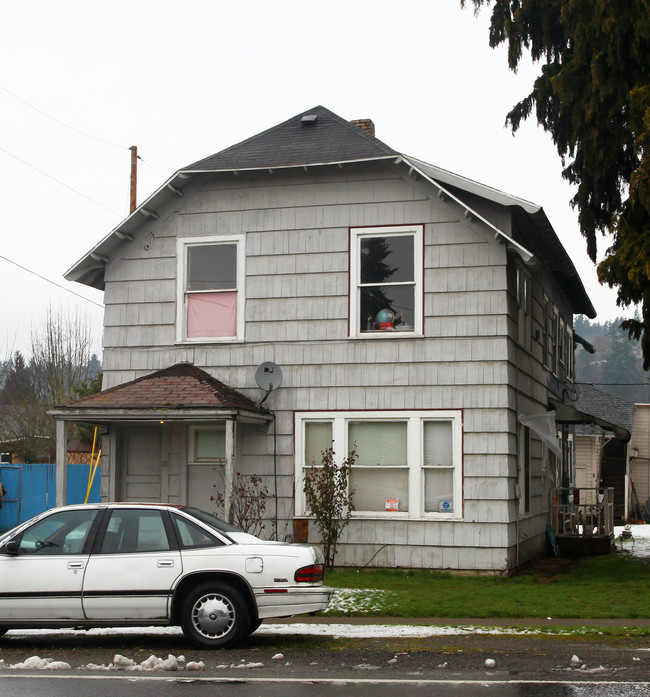
[[122, 432], [122, 501], [162, 500], [162, 436], [162, 424]]

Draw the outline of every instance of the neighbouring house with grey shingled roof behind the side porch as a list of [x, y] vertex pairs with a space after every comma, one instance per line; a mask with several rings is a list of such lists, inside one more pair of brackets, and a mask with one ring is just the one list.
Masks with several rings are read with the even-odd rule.
[[575, 408], [585, 419], [573, 436], [580, 501], [594, 503], [599, 489], [611, 487], [614, 517], [625, 521], [630, 510], [628, 442], [634, 404], [587, 383], [577, 383], [576, 392]]

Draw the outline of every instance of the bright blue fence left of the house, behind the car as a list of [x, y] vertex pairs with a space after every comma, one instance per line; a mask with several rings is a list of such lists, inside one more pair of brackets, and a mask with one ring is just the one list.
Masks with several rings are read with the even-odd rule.
[[[66, 501], [83, 503], [88, 491], [90, 465], [68, 465]], [[92, 481], [89, 503], [99, 503], [101, 468]], [[0, 509], [0, 532], [10, 530], [56, 505], [56, 465], [0, 465], [0, 482], [7, 495]]]

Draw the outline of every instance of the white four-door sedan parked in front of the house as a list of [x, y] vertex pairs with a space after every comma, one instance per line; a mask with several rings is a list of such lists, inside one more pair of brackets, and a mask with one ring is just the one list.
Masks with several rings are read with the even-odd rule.
[[167, 504], [55, 508], [0, 536], [0, 635], [10, 629], [180, 625], [232, 646], [269, 617], [327, 607], [323, 557]]

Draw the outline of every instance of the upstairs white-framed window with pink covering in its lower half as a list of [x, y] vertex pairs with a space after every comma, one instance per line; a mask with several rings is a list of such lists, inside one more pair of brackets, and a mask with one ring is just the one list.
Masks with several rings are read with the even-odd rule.
[[242, 339], [243, 236], [181, 238], [177, 258], [177, 339]]

